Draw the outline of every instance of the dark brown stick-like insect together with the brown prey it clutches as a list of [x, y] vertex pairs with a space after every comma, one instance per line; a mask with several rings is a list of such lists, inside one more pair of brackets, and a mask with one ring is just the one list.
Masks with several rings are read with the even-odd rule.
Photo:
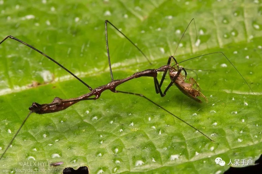
[[[185, 35], [185, 32], [187, 31], [189, 25], [192, 23], [192, 21], [194, 21], [194, 25], [195, 25], [195, 20], [194, 18], [190, 21], [190, 23], [188, 24], [188, 26], [186, 27], [185, 31], [183, 32], [180, 41], [177, 44], [177, 47], [174, 51], [174, 55], [177, 51], [178, 45], [180, 44], [183, 36]], [[79, 80], [80, 82], [82, 82], [82, 84], [84, 84], [86, 87], [88, 87], [88, 89], [90, 90], [89, 93], [84, 94], [80, 97], [77, 98], [71, 98], [71, 99], [61, 99], [61, 98], [54, 98], [54, 100], [51, 103], [47, 103], [47, 104], [38, 104], [36, 102], [32, 103], [32, 106], [29, 107], [29, 114], [26, 116], [26, 118], [24, 119], [24, 121], [22, 122], [21, 126], [19, 127], [19, 129], [17, 130], [17, 132], [15, 133], [14, 137], [12, 138], [12, 140], [10, 141], [9, 145], [7, 146], [7, 148], [5, 149], [4, 153], [1, 155], [1, 158], [4, 156], [4, 154], [6, 153], [7, 149], [10, 147], [10, 145], [12, 144], [13, 140], [15, 139], [15, 137], [18, 135], [19, 131], [21, 130], [21, 128], [23, 127], [23, 125], [25, 124], [26, 120], [29, 118], [29, 116], [32, 113], [36, 113], [36, 114], [47, 114], [47, 113], [53, 113], [53, 112], [58, 112], [58, 111], [62, 111], [66, 108], [68, 108], [69, 106], [72, 106], [75, 103], [78, 103], [79, 101], [83, 101], [83, 100], [97, 100], [102, 92], [104, 92], [105, 90], [110, 90], [112, 92], [115, 93], [124, 93], [124, 94], [129, 94], [129, 95], [136, 95], [136, 96], [140, 96], [143, 97], [144, 99], [146, 99], [147, 101], [151, 102], [152, 104], [154, 104], [155, 106], [163, 109], [164, 111], [166, 111], [167, 113], [169, 113], [170, 115], [174, 116], [175, 118], [179, 119], [180, 121], [184, 122], [185, 124], [187, 124], [188, 126], [190, 126], [191, 128], [197, 130], [199, 133], [201, 133], [202, 135], [204, 135], [206, 138], [208, 138], [210, 141], [211, 140], [207, 135], [205, 135], [203, 132], [201, 132], [199, 129], [195, 128], [194, 126], [192, 126], [191, 124], [185, 122], [183, 119], [179, 118], [178, 116], [174, 115], [173, 113], [171, 113], [170, 111], [166, 110], [165, 108], [163, 108], [162, 106], [160, 106], [159, 104], [155, 103], [153, 100], [147, 98], [146, 96], [144, 96], [143, 94], [139, 94], [139, 93], [135, 93], [135, 92], [127, 92], [127, 91], [120, 91], [120, 90], [116, 90], [116, 87], [124, 82], [127, 82], [131, 79], [135, 79], [135, 78], [139, 78], [139, 77], [152, 77], [154, 80], [154, 86], [155, 86], [155, 92], [157, 94], [160, 94], [161, 97], [164, 97], [166, 95], [166, 92], [169, 90], [169, 88], [175, 84], [178, 89], [183, 92], [185, 95], [187, 95], [189, 98], [201, 103], [202, 101], [197, 98], [197, 97], [202, 97], [204, 99], [206, 99], [205, 95], [202, 94], [199, 85], [197, 84], [197, 82], [190, 77], [189, 79], [187, 79], [187, 71], [185, 68], [181, 68], [179, 67], [179, 63], [185, 62], [187, 60], [191, 60], [191, 59], [195, 59], [195, 58], [199, 58], [201, 56], [205, 56], [205, 55], [211, 55], [211, 54], [222, 54], [224, 56], [224, 58], [227, 59], [227, 61], [230, 62], [230, 64], [236, 69], [236, 71], [238, 72], [238, 74], [240, 74], [240, 72], [237, 70], [237, 68], [233, 65], [233, 63], [226, 57], [226, 55], [224, 55], [223, 52], [212, 52], [212, 53], [208, 53], [208, 54], [204, 54], [204, 55], [200, 55], [200, 56], [196, 56], [193, 58], [189, 58], [187, 60], [183, 60], [181, 62], [177, 62], [177, 60], [174, 58], [174, 55], [169, 56], [167, 64], [161, 66], [160, 68], [157, 69], [146, 69], [144, 71], [140, 71], [140, 72], [136, 72], [133, 75], [124, 78], [124, 79], [119, 79], [119, 80], [114, 80], [113, 79], [113, 73], [112, 73], [112, 68], [111, 68], [111, 63], [110, 63], [110, 55], [109, 55], [109, 46], [108, 46], [108, 38], [107, 38], [107, 24], [110, 24], [113, 28], [116, 29], [116, 31], [118, 31], [119, 33], [121, 33], [122, 36], [124, 36], [132, 45], [134, 45], [137, 50], [139, 52], [141, 52], [141, 54], [146, 58], [146, 60], [152, 64], [150, 62], [150, 60], [146, 57], [146, 55], [142, 52], [142, 50], [140, 48], [138, 48], [138, 46], [136, 46], [136, 44], [134, 44], [134, 42], [132, 42], [124, 33], [122, 33], [115, 25], [113, 25], [110, 21], [105, 20], [105, 39], [106, 39], [106, 49], [107, 49], [107, 57], [108, 57], [108, 63], [109, 63], [109, 69], [110, 69], [110, 76], [111, 76], [111, 81], [106, 84], [106, 85], [102, 85], [96, 88], [92, 88], [90, 87], [88, 84], [86, 84], [83, 80], [81, 80], [79, 77], [77, 77], [75, 74], [73, 74], [71, 71], [69, 71], [67, 68], [65, 68], [64, 66], [62, 66], [60, 63], [58, 63], [57, 61], [55, 61], [54, 59], [52, 59], [51, 57], [49, 57], [48, 55], [46, 55], [45, 53], [41, 52], [40, 50], [36, 49], [35, 47], [25, 43], [24, 41], [21, 41], [13, 36], [7, 36], [6, 38], [4, 38], [0, 44], [2, 44], [6, 39], [10, 38], [13, 39], [15, 41], [18, 41], [28, 47], [30, 47], [31, 49], [39, 52], [40, 54], [42, 54], [43, 56], [45, 56], [46, 58], [48, 58], [49, 60], [53, 61], [54, 63], [56, 63], [58, 66], [60, 66], [61, 68], [63, 68], [64, 70], [66, 70], [68, 73], [70, 73], [72, 76], [74, 76], [77, 80]], [[196, 25], [195, 25], [195, 29], [197, 31]], [[171, 61], [174, 60], [174, 65], [171, 66]], [[162, 78], [160, 80], [160, 82], [157, 79], [157, 73], [158, 72], [163, 72]], [[166, 87], [165, 90], [162, 91], [161, 87], [163, 84], [163, 81], [165, 79], [166, 74], [169, 72], [169, 76], [171, 79], [171, 82], [169, 83], [169, 85]], [[182, 74], [182, 72], [184, 72], [185, 75]], [[252, 91], [251, 87], [249, 86], [249, 84], [247, 83], [247, 81], [244, 79], [244, 77], [240, 74], [240, 76], [242, 77], [242, 79], [244, 80], [244, 82], [247, 84], [247, 86], [250, 88], [250, 90]], [[189, 83], [187, 82], [189, 81]], [[253, 91], [252, 91], [253, 92]], [[254, 92], [253, 92], [254, 93]]]

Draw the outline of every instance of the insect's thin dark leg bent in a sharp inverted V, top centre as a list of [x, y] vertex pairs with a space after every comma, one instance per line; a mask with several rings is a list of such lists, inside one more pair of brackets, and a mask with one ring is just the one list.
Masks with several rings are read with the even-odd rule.
[[149, 59], [146, 57], [146, 55], [144, 54], [144, 52], [142, 52], [142, 50], [140, 50], [140, 48], [138, 48], [138, 46], [136, 46], [134, 44], [134, 42], [132, 42], [124, 33], [122, 33], [120, 30], [118, 30], [118, 28], [116, 28], [115, 25], [113, 25], [109, 20], [105, 20], [105, 39], [106, 39], [106, 47], [107, 47], [107, 58], [108, 58], [108, 64], [109, 64], [109, 69], [110, 69], [110, 75], [111, 75], [111, 79], [113, 80], [113, 74], [112, 74], [112, 69], [111, 69], [111, 63], [110, 63], [110, 55], [109, 55], [109, 47], [108, 47], [108, 39], [107, 39], [107, 23], [109, 23], [111, 26], [113, 26], [116, 31], [118, 31], [119, 33], [121, 33], [128, 41], [130, 41], [131, 44], [133, 44], [139, 52], [141, 52], [141, 54], [146, 58], [146, 60], [149, 62], [149, 64], [152, 64]]

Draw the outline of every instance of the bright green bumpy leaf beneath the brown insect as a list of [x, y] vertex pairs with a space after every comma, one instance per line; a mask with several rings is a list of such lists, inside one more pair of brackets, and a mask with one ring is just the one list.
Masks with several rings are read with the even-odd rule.
[[[177, 61], [222, 51], [255, 92], [252, 95], [222, 54], [185, 61], [180, 66], [215, 70], [196, 71], [207, 103], [195, 102], [175, 86], [161, 98], [150, 77], [133, 79], [117, 90], [144, 94], [214, 142], [142, 97], [105, 91], [99, 100], [82, 101], [53, 114], [32, 114], [1, 159], [1, 169], [61, 173], [64, 167], [88, 166], [91, 173], [221, 173], [230, 167], [230, 159], [233, 163], [252, 159], [254, 165], [260, 156], [259, 1], [0, 2], [1, 38], [12, 35], [32, 44], [93, 88], [111, 80], [105, 19], [121, 28], [153, 63], [149, 65], [109, 26], [113, 76], [122, 79], [165, 65], [194, 17], [200, 44], [196, 44], [192, 24], [178, 47]], [[196, 79], [188, 70], [189, 76]], [[164, 86], [169, 82], [167, 77]], [[0, 45], [0, 151], [7, 148], [32, 102], [50, 103], [54, 97], [68, 99], [87, 92], [88, 88], [39, 53], [12, 39], [4, 41]], [[226, 162], [224, 167], [216, 165], [217, 157]], [[63, 167], [40, 163], [57, 161], [63, 161]]]

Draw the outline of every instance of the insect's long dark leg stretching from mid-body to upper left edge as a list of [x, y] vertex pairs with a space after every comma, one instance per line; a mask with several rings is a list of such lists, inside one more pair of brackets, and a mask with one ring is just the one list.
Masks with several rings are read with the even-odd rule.
[[3, 43], [7, 38], [14, 39], [14, 40], [16, 40], [16, 41], [18, 41], [18, 42], [26, 45], [27, 47], [30, 47], [30, 48], [32, 48], [33, 50], [39, 52], [40, 54], [42, 54], [43, 56], [45, 56], [45, 57], [48, 58], [49, 60], [52, 60], [52, 62], [56, 63], [58, 66], [60, 66], [60, 67], [63, 68], [64, 70], [66, 70], [66, 71], [67, 71], [68, 73], [70, 73], [72, 76], [74, 76], [74, 77], [75, 77], [77, 80], [79, 80], [82, 84], [84, 84], [85, 86], [87, 86], [90, 91], [93, 90], [88, 84], [86, 84], [86, 83], [85, 83], [84, 81], [82, 81], [79, 77], [77, 77], [76, 75], [74, 75], [71, 71], [69, 71], [69, 70], [68, 70], [67, 68], [65, 68], [63, 65], [61, 65], [60, 63], [58, 63], [58, 62], [55, 61], [54, 59], [50, 58], [50, 57], [49, 57], [48, 55], [46, 55], [45, 53], [39, 51], [39, 50], [36, 49], [35, 47], [32, 47], [31, 45], [29, 45], [29, 44], [27, 44], [27, 43], [25, 43], [25, 42], [23, 42], [23, 41], [15, 38], [15, 37], [13, 37], [13, 36], [10, 36], [10, 35], [9, 35], [9, 36], [6, 36], [6, 37], [0, 42], [0, 44]]

